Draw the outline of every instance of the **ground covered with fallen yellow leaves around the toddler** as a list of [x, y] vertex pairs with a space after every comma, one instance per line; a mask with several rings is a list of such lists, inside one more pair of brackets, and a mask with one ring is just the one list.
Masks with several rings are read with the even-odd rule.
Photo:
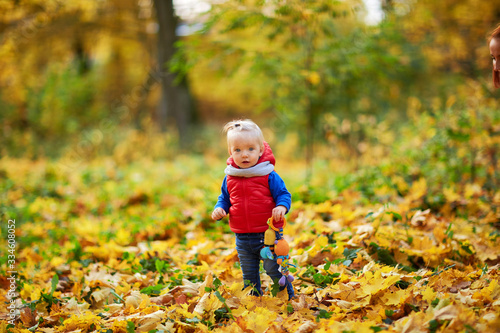
[[500, 331], [499, 192], [446, 188], [430, 210], [421, 178], [404, 196], [376, 188], [383, 203], [355, 189], [305, 202], [283, 168], [288, 301], [265, 274], [263, 297], [243, 290], [227, 222], [208, 219], [222, 175], [207, 165], [220, 161], [3, 158], [18, 273], [11, 326], [3, 245], [2, 332]]

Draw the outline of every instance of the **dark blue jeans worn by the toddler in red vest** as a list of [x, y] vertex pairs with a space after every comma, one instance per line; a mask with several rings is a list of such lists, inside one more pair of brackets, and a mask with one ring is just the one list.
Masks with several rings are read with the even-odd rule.
[[[240, 266], [243, 272], [243, 281], [245, 282], [245, 288], [249, 285], [253, 286], [252, 295], [260, 296], [262, 295], [262, 287], [260, 284], [260, 261], [264, 260], [264, 269], [267, 275], [271, 277], [274, 283], [278, 283], [279, 279], [283, 276], [279, 271], [279, 265], [276, 260], [262, 259], [260, 257], [260, 250], [264, 246], [264, 233], [248, 233], [248, 234], [236, 234], [236, 251], [238, 252], [238, 257], [240, 259]], [[276, 258], [276, 254], [274, 255]], [[283, 289], [288, 291], [288, 299], [295, 296], [293, 291], [293, 286], [290, 281], [286, 281], [286, 284], [281, 287], [280, 291]]]

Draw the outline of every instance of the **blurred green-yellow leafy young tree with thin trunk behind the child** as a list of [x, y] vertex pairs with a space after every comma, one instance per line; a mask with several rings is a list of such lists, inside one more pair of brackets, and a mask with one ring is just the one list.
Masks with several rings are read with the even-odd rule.
[[421, 72], [402, 36], [367, 27], [363, 14], [362, 1], [227, 1], [214, 5], [205, 33], [184, 44], [190, 61], [179, 67], [193, 72], [204, 63], [237, 76], [273, 116], [268, 127], [301, 135], [310, 176], [326, 114], [387, 112]]

